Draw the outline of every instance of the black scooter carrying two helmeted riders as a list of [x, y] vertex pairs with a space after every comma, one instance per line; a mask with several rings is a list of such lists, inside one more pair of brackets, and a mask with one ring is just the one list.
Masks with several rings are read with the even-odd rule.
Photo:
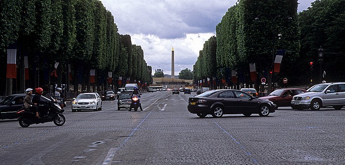
[[18, 121], [19, 125], [21, 127], [29, 127], [32, 124], [39, 124], [39, 123], [47, 123], [47, 122], [54, 122], [57, 126], [62, 126], [66, 122], [65, 116], [62, 114], [63, 109], [61, 106], [57, 103], [57, 101], [53, 98], [52, 100], [49, 100], [48, 98], [45, 98], [41, 96], [41, 99], [44, 101], [47, 101], [46, 105], [39, 105], [38, 109], [41, 108], [47, 108], [48, 110], [48, 116], [47, 117], [40, 117], [37, 118], [36, 114], [34, 112], [30, 112], [29, 110], [25, 109], [25, 107], [22, 107], [18, 110]]

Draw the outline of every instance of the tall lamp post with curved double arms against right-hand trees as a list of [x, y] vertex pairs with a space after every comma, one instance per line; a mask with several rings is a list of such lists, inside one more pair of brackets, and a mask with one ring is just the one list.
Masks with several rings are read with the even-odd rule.
[[[256, 18], [255, 18], [255, 21], [258, 21], [259, 20], [259, 17], [261, 16], [261, 15], [267, 15], [267, 16], [269, 16], [269, 18], [271, 18], [272, 19], [272, 21], [275, 23], [276, 22], [276, 18], [278, 18], [280, 15], [283, 15], [283, 14], [286, 14], [287, 15], [287, 13], [280, 13], [280, 14], [277, 14], [275, 17], [273, 17], [272, 15], [270, 15], [270, 14], [267, 14], [267, 13], [261, 13], [261, 14], [259, 14], [258, 16], [256, 16]], [[288, 20], [291, 20], [292, 18], [290, 17], [290, 16], [288, 16]], [[268, 92], [273, 92], [274, 90], [275, 90], [275, 50], [276, 50], [276, 33], [275, 33], [275, 31], [274, 30], [272, 30], [272, 33], [273, 33], [273, 37], [272, 37], [272, 40], [273, 40], [273, 50], [272, 50], [272, 78], [270, 78], [270, 80], [271, 80], [271, 82], [269, 83], [269, 90], [268, 90]]]

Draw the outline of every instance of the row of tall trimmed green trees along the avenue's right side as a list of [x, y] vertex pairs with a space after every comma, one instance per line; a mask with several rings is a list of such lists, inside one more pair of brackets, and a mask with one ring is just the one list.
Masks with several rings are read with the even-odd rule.
[[[217, 36], [200, 51], [194, 79], [215, 77], [232, 83], [231, 70], [236, 70], [238, 83], [258, 85], [262, 77], [270, 78], [280, 53], [280, 72], [273, 75], [273, 82], [283, 86], [282, 79], [287, 78], [288, 85], [302, 85], [314, 77], [312, 83], [317, 83], [317, 50], [322, 45], [325, 79], [344, 81], [345, 1], [316, 0], [300, 13], [297, 5], [297, 0], [241, 0], [230, 7], [216, 26]], [[310, 62], [316, 67], [311, 69]], [[257, 78], [252, 82], [249, 64], [254, 63]]]

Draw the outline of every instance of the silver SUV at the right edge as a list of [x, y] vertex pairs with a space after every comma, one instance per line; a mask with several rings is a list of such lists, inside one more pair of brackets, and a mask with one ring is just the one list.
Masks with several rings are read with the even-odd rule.
[[321, 107], [342, 109], [345, 106], [345, 82], [316, 84], [306, 93], [295, 95], [291, 100], [294, 109], [319, 110]]

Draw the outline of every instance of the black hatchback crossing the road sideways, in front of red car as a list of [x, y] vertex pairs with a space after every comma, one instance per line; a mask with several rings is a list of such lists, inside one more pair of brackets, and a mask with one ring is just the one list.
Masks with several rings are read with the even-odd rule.
[[208, 114], [213, 117], [222, 117], [223, 114], [243, 114], [250, 116], [253, 113], [268, 116], [275, 112], [272, 101], [256, 99], [239, 90], [210, 90], [189, 98], [188, 111], [204, 118]]

